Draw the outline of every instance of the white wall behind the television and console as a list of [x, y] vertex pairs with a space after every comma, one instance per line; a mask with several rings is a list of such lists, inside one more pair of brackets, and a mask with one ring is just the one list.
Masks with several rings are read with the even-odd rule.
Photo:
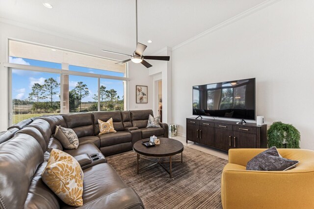
[[257, 115], [301, 132], [314, 150], [314, 1], [281, 0], [172, 52], [173, 122], [185, 135], [192, 86], [256, 78]]

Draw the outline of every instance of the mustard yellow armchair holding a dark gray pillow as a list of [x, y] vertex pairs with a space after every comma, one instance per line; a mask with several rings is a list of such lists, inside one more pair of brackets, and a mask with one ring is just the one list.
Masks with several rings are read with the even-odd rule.
[[224, 209], [314, 209], [314, 151], [278, 149], [298, 160], [288, 171], [247, 171], [247, 162], [266, 149], [230, 149], [221, 177]]

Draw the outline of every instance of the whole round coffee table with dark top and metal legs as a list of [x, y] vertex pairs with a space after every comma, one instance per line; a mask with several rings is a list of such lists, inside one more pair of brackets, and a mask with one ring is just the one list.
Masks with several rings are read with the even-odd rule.
[[[183, 162], [183, 144], [180, 141], [175, 140], [175, 139], [163, 138], [163, 137], [160, 137], [158, 139], [160, 139], [160, 144], [152, 146], [152, 147], [146, 147], [145, 145], [142, 144], [143, 141], [149, 141], [149, 138], [139, 140], [135, 142], [135, 144], [133, 145], [133, 150], [137, 154], [136, 156], [137, 174], [139, 173], [139, 170], [149, 168], [153, 165], [159, 164], [161, 167], [163, 167], [163, 169], [165, 169], [165, 171], [168, 172], [171, 178], [172, 177], [172, 163]], [[171, 159], [171, 157], [180, 153], [181, 153], [181, 160]], [[142, 156], [156, 157], [157, 160], [148, 159]], [[160, 160], [161, 157], [169, 157], [169, 161]], [[152, 161], [154, 163], [146, 167], [139, 168], [140, 158]], [[161, 163], [169, 163], [169, 167], [170, 167], [169, 171]]]

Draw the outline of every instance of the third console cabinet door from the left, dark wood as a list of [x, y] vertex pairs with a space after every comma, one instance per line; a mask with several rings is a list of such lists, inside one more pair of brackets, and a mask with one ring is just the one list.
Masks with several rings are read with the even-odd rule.
[[225, 151], [228, 151], [230, 148], [232, 148], [233, 131], [223, 129], [214, 130], [215, 130], [215, 147]]

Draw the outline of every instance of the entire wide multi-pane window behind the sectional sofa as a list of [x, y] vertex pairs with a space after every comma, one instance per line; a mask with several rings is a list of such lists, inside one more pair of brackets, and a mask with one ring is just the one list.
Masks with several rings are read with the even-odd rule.
[[116, 62], [10, 40], [9, 124], [59, 113], [125, 110], [127, 65]]

